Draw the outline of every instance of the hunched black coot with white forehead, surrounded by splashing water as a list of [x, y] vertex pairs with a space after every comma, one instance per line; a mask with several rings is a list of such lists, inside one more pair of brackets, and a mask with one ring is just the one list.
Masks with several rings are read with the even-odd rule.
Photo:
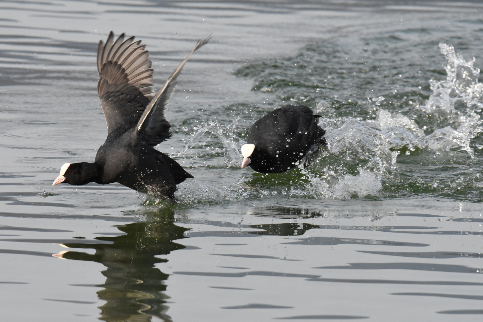
[[327, 144], [318, 117], [305, 105], [287, 105], [265, 115], [250, 127], [241, 147], [241, 168], [250, 165], [262, 173], [285, 172], [300, 163], [307, 168], [313, 154]]

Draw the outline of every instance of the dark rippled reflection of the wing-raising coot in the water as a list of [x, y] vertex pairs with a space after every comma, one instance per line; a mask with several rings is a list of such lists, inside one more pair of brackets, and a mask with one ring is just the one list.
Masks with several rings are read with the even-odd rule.
[[106, 266], [102, 271], [106, 277], [104, 287], [97, 292], [106, 303], [101, 309], [100, 320], [148, 322], [153, 316], [166, 322], [171, 318], [166, 314], [168, 295], [164, 280], [168, 274], [155, 267], [156, 263], [166, 263], [167, 259], [156, 255], [169, 254], [185, 246], [172, 242], [185, 238], [188, 228], [174, 224], [172, 210], [149, 213], [147, 222], [119, 225], [117, 228], [127, 235], [97, 237], [95, 239], [112, 241], [111, 244], [64, 244], [69, 248], [95, 249], [91, 255], [85, 252], [64, 251], [54, 256], [65, 259], [94, 261]]

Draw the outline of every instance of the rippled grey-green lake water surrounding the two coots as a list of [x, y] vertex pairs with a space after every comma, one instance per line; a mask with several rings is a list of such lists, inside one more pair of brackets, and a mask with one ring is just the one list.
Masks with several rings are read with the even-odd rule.
[[[52, 186], [105, 140], [111, 30], [147, 45], [157, 88], [213, 32], [157, 147], [195, 177], [176, 205]], [[0, 2], [2, 320], [481, 321], [482, 52], [479, 1]], [[239, 168], [287, 104], [327, 149]]]

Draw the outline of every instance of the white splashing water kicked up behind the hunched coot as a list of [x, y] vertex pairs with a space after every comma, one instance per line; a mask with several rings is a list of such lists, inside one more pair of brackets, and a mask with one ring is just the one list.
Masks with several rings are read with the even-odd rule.
[[[473, 67], [474, 58], [466, 62], [455, 54], [453, 46], [440, 43], [440, 49], [447, 60], [447, 78], [430, 81], [433, 93], [420, 109], [445, 114], [446, 123], [442, 125], [446, 126], [426, 136], [410, 117], [381, 108], [377, 109], [375, 120], [320, 118], [319, 125], [327, 130], [327, 150], [319, 154], [309, 171], [299, 167], [310, 184], [305, 189], [292, 187], [290, 194], [336, 199], [381, 195], [385, 183], [400, 181], [397, 156], [404, 150], [406, 155], [416, 150], [432, 150], [436, 154], [465, 151], [473, 158], [471, 139], [483, 131], [479, 114], [483, 107], [480, 70]], [[380, 96], [372, 101], [380, 105], [384, 99]], [[316, 112], [331, 115], [334, 109], [322, 100]], [[448, 117], [449, 114], [453, 115]], [[438, 183], [433, 182], [432, 186]]]

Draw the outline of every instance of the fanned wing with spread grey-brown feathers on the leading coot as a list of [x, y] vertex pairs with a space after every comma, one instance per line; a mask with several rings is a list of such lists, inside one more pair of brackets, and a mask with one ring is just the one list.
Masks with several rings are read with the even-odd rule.
[[106, 43], [100, 41], [97, 51], [99, 82], [97, 92], [106, 117], [108, 135], [122, 135], [136, 126], [153, 93], [153, 70], [149, 52], [133, 42], [124, 40], [124, 33], [114, 42], [111, 31]]

